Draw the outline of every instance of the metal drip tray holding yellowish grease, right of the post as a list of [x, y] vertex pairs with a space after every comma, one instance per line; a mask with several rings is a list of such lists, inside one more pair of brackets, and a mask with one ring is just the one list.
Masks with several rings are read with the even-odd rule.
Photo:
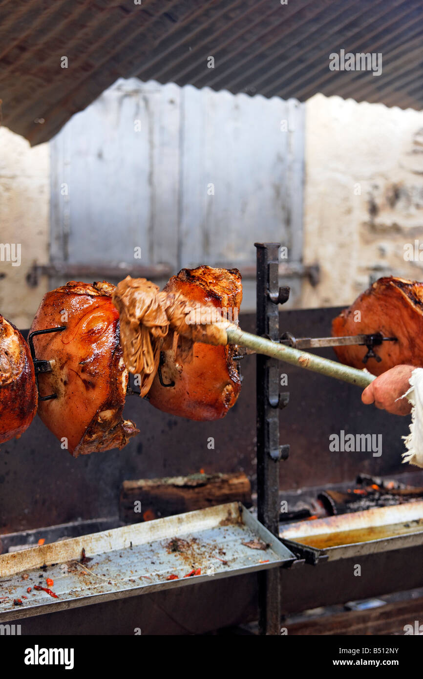
[[284, 545], [308, 563], [423, 545], [423, 502], [376, 507], [282, 526]]

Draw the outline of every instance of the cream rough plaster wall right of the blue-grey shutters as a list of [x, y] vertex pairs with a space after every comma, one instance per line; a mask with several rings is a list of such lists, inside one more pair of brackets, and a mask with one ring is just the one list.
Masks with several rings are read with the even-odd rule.
[[306, 103], [304, 282], [301, 306], [350, 304], [373, 276], [423, 280], [423, 112], [316, 94]]

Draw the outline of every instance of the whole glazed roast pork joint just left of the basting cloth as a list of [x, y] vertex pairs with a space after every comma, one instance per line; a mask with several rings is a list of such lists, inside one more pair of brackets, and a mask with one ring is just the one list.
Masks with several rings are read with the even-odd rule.
[[113, 289], [105, 281], [71, 281], [43, 297], [31, 327], [66, 326], [34, 338], [37, 358], [54, 360], [52, 372], [39, 375], [40, 394], [57, 395], [40, 401], [38, 414], [74, 457], [122, 448], [138, 433], [122, 418], [128, 371]]

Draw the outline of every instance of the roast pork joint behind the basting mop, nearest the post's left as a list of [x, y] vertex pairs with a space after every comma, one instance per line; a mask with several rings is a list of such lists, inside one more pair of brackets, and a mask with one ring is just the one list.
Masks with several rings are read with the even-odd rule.
[[[237, 321], [242, 300], [241, 275], [238, 269], [215, 269], [199, 266], [182, 269], [172, 276], [166, 292], [182, 293], [192, 302], [191, 321], [200, 321], [201, 314], [216, 309], [213, 320]], [[210, 305], [207, 309], [201, 305]], [[212, 314], [213, 315], [213, 314]], [[198, 318], [200, 316], [200, 318]], [[208, 319], [205, 319], [208, 323]], [[204, 322], [204, 319], [202, 319]], [[188, 360], [178, 353], [177, 344], [162, 353], [160, 374], [157, 373], [148, 393], [151, 405], [189, 420], [218, 420], [231, 408], [241, 389], [238, 369], [233, 359], [236, 347], [212, 346], [194, 342]]]

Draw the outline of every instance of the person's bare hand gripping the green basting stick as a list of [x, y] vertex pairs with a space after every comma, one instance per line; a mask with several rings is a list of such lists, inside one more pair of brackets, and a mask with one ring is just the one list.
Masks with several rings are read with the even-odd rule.
[[409, 415], [411, 403], [408, 399], [396, 399], [409, 390], [409, 378], [414, 369], [415, 365], [396, 365], [387, 370], [365, 388], [361, 400], [366, 404], [374, 403], [392, 415]]

